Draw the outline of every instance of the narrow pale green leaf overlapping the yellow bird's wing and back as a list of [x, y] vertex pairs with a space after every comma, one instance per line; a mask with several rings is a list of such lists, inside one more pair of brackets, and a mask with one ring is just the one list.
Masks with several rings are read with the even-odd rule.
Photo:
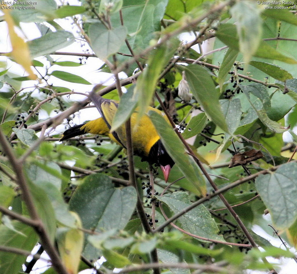
[[127, 92], [121, 96], [118, 109], [113, 117], [110, 131], [115, 131], [119, 128], [134, 112], [137, 105], [137, 96], [133, 93], [134, 87], [134, 85], [130, 86]]

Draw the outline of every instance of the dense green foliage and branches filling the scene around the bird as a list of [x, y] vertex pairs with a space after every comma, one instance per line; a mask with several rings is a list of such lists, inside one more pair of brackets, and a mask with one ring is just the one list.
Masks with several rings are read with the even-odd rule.
[[[20, 273], [37, 242], [50, 257], [45, 273], [59, 274], [96, 268], [101, 256], [106, 261], [97, 273], [107, 274], [115, 267], [267, 273], [279, 267], [267, 256], [294, 258], [253, 228], [271, 235], [280, 229], [279, 237], [297, 244], [295, 6], [247, 0], [25, 6], [3, 6], [0, 21], [11, 43], [11, 52], [0, 53], [0, 273]], [[66, 19], [76, 32], [64, 27]], [[23, 23], [33, 23], [39, 37], [24, 39]], [[180, 41], [182, 33], [195, 36]], [[75, 41], [80, 52], [63, 52]], [[93, 82], [83, 74], [90, 58], [99, 68]], [[119, 80], [120, 72], [126, 79]], [[187, 102], [178, 96], [182, 79]], [[128, 90], [122, 98], [121, 86]], [[66, 127], [83, 122], [80, 113], [98, 117], [86, 106], [91, 87], [120, 100], [112, 129], [135, 109], [137, 122], [148, 115], [175, 161], [168, 184], [159, 167], [138, 156], [134, 184], [129, 149], [127, 158], [106, 137], [59, 142]], [[165, 114], [146, 113], [149, 105], [178, 126]], [[289, 128], [292, 141], [284, 142]], [[26, 273], [39, 257], [26, 263]]]

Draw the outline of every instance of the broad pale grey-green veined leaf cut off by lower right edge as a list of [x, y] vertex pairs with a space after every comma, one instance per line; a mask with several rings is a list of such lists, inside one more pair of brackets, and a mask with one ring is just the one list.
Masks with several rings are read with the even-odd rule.
[[289, 162], [255, 180], [276, 228], [289, 228], [297, 217], [297, 163]]

